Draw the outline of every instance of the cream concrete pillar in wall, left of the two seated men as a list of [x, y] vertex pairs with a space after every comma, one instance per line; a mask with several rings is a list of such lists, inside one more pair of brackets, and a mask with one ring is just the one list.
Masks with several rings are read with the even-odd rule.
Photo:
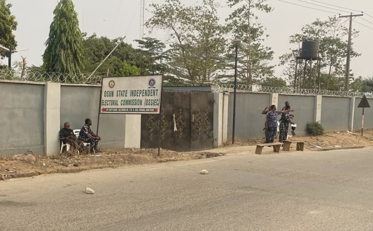
[[45, 83], [44, 88], [44, 153], [53, 156], [60, 151], [61, 85]]

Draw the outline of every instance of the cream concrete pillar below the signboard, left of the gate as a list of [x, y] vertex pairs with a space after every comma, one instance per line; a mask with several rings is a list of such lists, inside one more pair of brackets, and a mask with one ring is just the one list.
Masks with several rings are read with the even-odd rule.
[[126, 114], [125, 118], [125, 148], [140, 148], [141, 115]]

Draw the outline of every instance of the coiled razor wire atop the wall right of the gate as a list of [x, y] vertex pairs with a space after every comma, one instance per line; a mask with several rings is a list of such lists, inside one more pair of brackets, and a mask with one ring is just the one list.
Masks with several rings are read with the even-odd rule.
[[[259, 85], [237, 85], [237, 92], [265, 92], [265, 93], [281, 93], [281, 94], [303, 94], [303, 95], [331, 95], [339, 97], [362, 97], [364, 94], [368, 98], [373, 98], [373, 92], [357, 92], [357, 91], [330, 91], [317, 89], [294, 89], [291, 87], [268, 87]], [[233, 84], [221, 84], [212, 87], [213, 91], [234, 91]]]

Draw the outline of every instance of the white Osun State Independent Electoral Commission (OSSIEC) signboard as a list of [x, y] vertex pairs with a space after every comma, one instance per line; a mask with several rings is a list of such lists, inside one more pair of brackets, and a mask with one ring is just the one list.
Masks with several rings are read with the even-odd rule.
[[100, 113], [159, 114], [162, 75], [102, 79]]

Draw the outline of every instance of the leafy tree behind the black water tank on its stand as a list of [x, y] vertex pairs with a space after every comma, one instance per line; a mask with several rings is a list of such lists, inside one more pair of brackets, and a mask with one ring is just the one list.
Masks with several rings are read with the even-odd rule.
[[[353, 36], [358, 36], [358, 31], [354, 30], [352, 32]], [[321, 21], [319, 18], [316, 19], [310, 25], [305, 25], [301, 29], [301, 33], [294, 34], [290, 36], [290, 43], [296, 45], [295, 49], [292, 49], [291, 52], [280, 56], [280, 65], [288, 65], [285, 69], [284, 74], [289, 76], [290, 79], [294, 78], [294, 69], [295, 69], [295, 58], [294, 56], [299, 56], [301, 42], [311, 38], [314, 41], [319, 43], [319, 55], [321, 58], [320, 68], [321, 72], [326, 73], [319, 81], [321, 82], [322, 89], [332, 90], [335, 89], [335, 85], [331, 81], [335, 81], [335, 78], [338, 76], [343, 76], [345, 73], [345, 59], [347, 55], [347, 41], [346, 36], [348, 34], [348, 28], [339, 21], [336, 16], [329, 17], [326, 21]], [[351, 50], [351, 57], [357, 57], [360, 54], [354, 50]], [[304, 66], [299, 66], [300, 69]], [[308, 74], [309, 71], [307, 71]], [[301, 81], [301, 87], [316, 87], [316, 76], [318, 70], [316, 65], [312, 70], [312, 77], [309, 79], [306, 76], [303, 76], [303, 72], [299, 72]], [[353, 74], [351, 74], [352, 80]], [[292, 81], [293, 82], [293, 81]], [[339, 79], [336, 83], [340, 83]], [[303, 85], [305, 84], [305, 85]], [[333, 83], [334, 84], [334, 83]], [[338, 84], [338, 89], [343, 87], [343, 83]]]

